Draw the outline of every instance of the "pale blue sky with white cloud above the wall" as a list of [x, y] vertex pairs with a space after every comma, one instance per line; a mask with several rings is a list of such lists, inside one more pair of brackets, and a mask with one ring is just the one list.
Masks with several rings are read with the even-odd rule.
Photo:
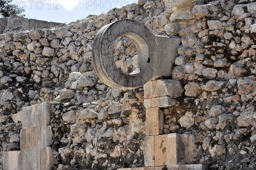
[[90, 14], [99, 15], [137, 3], [137, 0], [13, 0], [12, 3], [23, 7], [28, 19], [70, 23]]

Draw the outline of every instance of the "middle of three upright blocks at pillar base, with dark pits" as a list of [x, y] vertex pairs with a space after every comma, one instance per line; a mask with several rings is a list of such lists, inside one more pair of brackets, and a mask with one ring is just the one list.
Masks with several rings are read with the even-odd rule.
[[167, 135], [155, 135], [155, 166], [167, 165]]

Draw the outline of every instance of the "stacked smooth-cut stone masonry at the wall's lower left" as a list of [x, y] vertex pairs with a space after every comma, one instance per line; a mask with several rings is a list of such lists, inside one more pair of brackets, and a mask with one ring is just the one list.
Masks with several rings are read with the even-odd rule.
[[23, 107], [18, 112], [23, 127], [20, 151], [3, 152], [3, 170], [50, 170], [52, 167], [52, 127], [50, 103]]

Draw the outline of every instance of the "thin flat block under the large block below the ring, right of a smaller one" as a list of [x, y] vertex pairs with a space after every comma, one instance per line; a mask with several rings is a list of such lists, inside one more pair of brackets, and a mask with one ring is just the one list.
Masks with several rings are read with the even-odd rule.
[[177, 101], [172, 99], [170, 96], [151, 98], [151, 107], [171, 107], [176, 103]]

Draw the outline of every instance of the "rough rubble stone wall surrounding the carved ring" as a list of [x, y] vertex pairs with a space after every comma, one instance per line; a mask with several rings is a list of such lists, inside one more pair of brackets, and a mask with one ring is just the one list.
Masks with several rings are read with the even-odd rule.
[[[161, 133], [192, 135], [193, 164], [210, 170], [255, 169], [256, 3], [205, 0], [185, 8], [175, 11], [163, 0], [139, 0], [60, 29], [0, 35], [0, 162], [3, 151], [20, 150], [22, 122], [12, 115], [49, 101], [56, 102], [50, 122], [55, 169], [144, 167], [148, 94], [143, 88], [111, 89], [91, 64], [99, 29], [131, 18], [154, 34], [182, 40], [172, 76], [162, 78], [178, 83], [169, 93], [172, 104], [160, 108]], [[118, 50], [131, 54], [134, 45], [119, 41]]]

